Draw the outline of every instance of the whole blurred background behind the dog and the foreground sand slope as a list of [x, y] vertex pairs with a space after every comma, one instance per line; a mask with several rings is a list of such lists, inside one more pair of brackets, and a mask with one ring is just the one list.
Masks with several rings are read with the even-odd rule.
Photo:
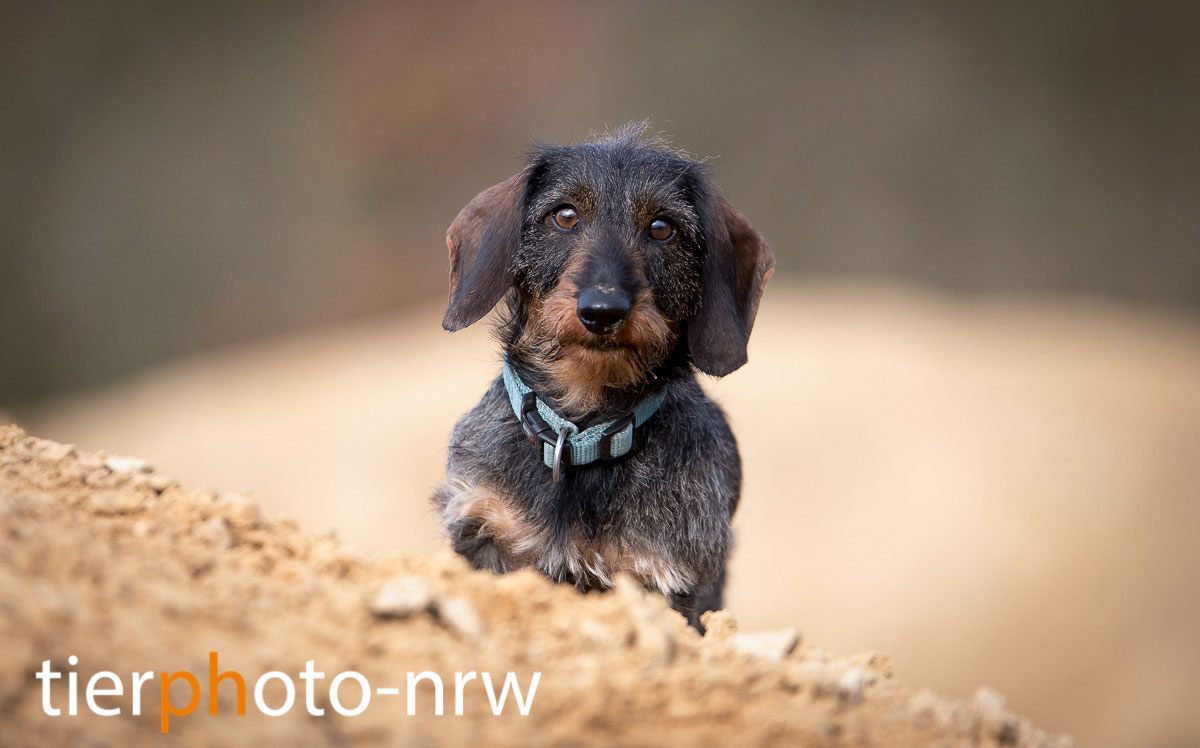
[[743, 627], [1200, 744], [1200, 6], [4, 4], [0, 94], [0, 419], [368, 552], [497, 369], [445, 227], [652, 119], [779, 258]]

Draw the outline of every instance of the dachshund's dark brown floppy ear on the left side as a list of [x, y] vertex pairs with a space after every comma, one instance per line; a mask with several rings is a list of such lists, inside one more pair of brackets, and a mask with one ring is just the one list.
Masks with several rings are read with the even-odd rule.
[[521, 243], [528, 169], [484, 190], [446, 231], [450, 305], [442, 327], [479, 322], [512, 287], [512, 251]]

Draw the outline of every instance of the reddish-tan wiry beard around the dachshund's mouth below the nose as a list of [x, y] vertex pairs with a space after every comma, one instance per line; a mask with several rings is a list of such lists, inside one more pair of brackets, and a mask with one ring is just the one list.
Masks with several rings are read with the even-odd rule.
[[564, 283], [534, 305], [520, 343], [541, 363], [559, 405], [588, 413], [614, 391], [649, 381], [670, 353], [674, 331], [649, 291], [638, 293], [629, 319], [611, 335], [594, 335], [583, 327], [575, 297], [575, 288]]

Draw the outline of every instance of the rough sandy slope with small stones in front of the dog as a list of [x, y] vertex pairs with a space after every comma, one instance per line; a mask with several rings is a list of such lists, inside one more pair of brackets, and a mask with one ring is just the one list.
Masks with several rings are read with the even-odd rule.
[[[70, 445], [0, 429], [0, 743], [92, 746], [160, 737], [160, 683], [128, 712], [132, 671], [191, 671], [199, 708], [170, 719], [186, 744], [845, 744], [967, 746], [1057, 743], [982, 689], [955, 702], [898, 683], [887, 660], [791, 653], [786, 634], [736, 633], [726, 616], [701, 639], [656, 596], [623, 584], [580, 596], [535, 574], [474, 573], [452, 556], [366, 559], [329, 535], [262, 519], [242, 495], [187, 491], [136, 460], [82, 454]], [[210, 716], [209, 652], [220, 669], [252, 683], [272, 670], [298, 690], [283, 717], [253, 706], [234, 714], [235, 687], [218, 689]], [[750, 653], [751, 651], [756, 653]], [[72, 668], [68, 657], [77, 656]], [[44, 659], [77, 672], [79, 716], [67, 716], [67, 687], [52, 688], [59, 717], [42, 710]], [[373, 695], [361, 714], [332, 714], [329, 680], [314, 683], [306, 713], [306, 660], [330, 677], [356, 671]], [[96, 671], [125, 678], [124, 695], [95, 717], [83, 684]], [[528, 716], [512, 700], [492, 713], [480, 681], [454, 714], [454, 674], [541, 674]], [[404, 708], [408, 672], [448, 682], [446, 713], [432, 716], [432, 686], [418, 714]], [[481, 676], [480, 676], [481, 677]], [[497, 678], [497, 687], [499, 687]], [[170, 701], [186, 706], [176, 681]], [[498, 690], [498, 688], [497, 688]], [[355, 684], [340, 692], [359, 702]], [[528, 689], [524, 696], [529, 698]], [[282, 681], [263, 693], [284, 702]], [[512, 696], [510, 695], [510, 699]]]

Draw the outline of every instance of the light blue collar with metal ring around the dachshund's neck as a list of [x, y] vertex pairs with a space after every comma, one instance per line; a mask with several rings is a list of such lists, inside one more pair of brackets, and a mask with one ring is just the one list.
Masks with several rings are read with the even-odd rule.
[[533, 444], [541, 443], [542, 462], [553, 471], [558, 483], [562, 465], [580, 466], [596, 460], [612, 460], [629, 454], [634, 448], [634, 429], [644, 424], [659, 406], [666, 393], [662, 389], [647, 395], [623, 418], [580, 430], [578, 426], [554, 412], [528, 384], [521, 381], [516, 370], [504, 359], [504, 389], [516, 413], [521, 427]]

